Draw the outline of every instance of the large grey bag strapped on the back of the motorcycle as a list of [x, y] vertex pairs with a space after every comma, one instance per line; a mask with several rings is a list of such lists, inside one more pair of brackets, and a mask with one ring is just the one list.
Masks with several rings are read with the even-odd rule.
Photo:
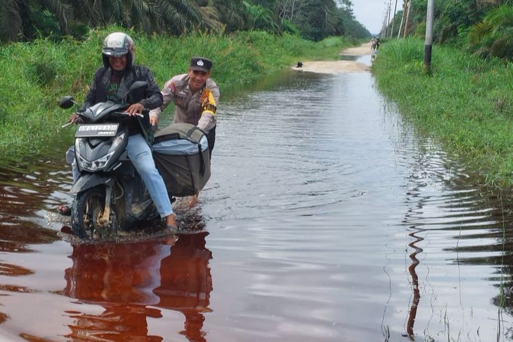
[[170, 196], [198, 194], [210, 178], [207, 135], [194, 124], [170, 124], [155, 133], [153, 159]]

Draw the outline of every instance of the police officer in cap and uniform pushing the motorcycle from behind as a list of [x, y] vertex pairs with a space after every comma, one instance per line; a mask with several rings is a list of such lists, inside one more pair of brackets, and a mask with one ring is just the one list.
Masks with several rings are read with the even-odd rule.
[[196, 125], [207, 133], [209, 152], [215, 142], [215, 111], [219, 101], [218, 85], [210, 78], [212, 61], [205, 57], [192, 57], [187, 74], [176, 75], [161, 90], [163, 104], [150, 111], [150, 123], [159, 123], [160, 115], [174, 102], [174, 122]]

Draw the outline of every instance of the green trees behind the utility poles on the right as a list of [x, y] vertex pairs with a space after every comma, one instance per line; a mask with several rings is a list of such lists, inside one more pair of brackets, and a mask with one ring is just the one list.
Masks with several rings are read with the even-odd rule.
[[[381, 32], [423, 38], [428, 2], [404, 0]], [[434, 0], [433, 40], [482, 57], [513, 60], [513, 0]]]

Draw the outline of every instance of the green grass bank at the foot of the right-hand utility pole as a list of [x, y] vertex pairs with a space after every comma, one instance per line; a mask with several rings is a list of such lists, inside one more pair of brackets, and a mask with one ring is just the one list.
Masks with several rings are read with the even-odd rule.
[[513, 66], [434, 46], [427, 75], [423, 49], [413, 38], [382, 44], [373, 63], [378, 87], [488, 185], [513, 185]]

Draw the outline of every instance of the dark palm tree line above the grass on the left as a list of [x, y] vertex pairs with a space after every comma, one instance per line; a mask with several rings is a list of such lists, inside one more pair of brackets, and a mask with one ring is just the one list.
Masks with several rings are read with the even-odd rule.
[[147, 34], [189, 31], [288, 32], [308, 40], [371, 36], [350, 0], [2, 0], [0, 41], [81, 38], [120, 25]]

